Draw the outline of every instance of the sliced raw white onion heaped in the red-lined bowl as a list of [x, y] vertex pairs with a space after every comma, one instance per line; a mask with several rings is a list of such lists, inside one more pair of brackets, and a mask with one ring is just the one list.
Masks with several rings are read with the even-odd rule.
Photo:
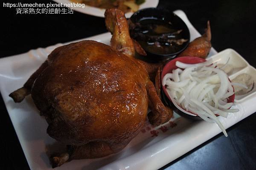
[[212, 59], [197, 64], [176, 61], [176, 66], [179, 68], [166, 74], [162, 80], [173, 104], [189, 115], [194, 112], [209, 123], [217, 123], [227, 136], [215, 115], [227, 118], [229, 112], [239, 112], [239, 109], [230, 109], [233, 103], [227, 103], [227, 98], [234, 94], [227, 74], [218, 69]]

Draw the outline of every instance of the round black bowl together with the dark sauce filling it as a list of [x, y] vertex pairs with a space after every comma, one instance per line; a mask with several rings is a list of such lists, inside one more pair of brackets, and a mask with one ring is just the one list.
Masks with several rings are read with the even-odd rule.
[[131, 17], [130, 35], [147, 55], [174, 57], [189, 44], [186, 24], [177, 15], [160, 9], [142, 9]]

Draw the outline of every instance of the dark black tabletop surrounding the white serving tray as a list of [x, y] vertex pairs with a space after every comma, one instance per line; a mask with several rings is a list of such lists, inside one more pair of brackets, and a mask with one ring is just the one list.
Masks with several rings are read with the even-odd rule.
[[[107, 32], [104, 18], [74, 14], [21, 14], [5, 3], [53, 3], [50, 0], [4, 0], [0, 9], [0, 58]], [[160, 0], [160, 8], [183, 10], [195, 29], [204, 33], [207, 20], [212, 46], [232, 48], [256, 67], [255, 0]], [[29, 166], [0, 96], [0, 169], [26, 170]], [[256, 114], [250, 115], [161, 170], [253, 170], [256, 169]], [[172, 153], [170, 153], [172, 154]], [[175, 154], [175, 153], [173, 153]]]

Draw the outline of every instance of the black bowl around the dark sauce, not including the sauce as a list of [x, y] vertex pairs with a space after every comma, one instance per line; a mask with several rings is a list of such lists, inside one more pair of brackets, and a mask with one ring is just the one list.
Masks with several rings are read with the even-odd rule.
[[[173, 52], [171, 52], [171, 53], [165, 52], [165, 54], [163, 54], [160, 52], [161, 53], [160, 54], [157, 52], [152, 52], [152, 50], [149, 52], [149, 50], [143, 48], [145, 50], [145, 52], [147, 53], [147, 57], [154, 58], [157, 60], [162, 60], [164, 58], [175, 58], [175, 56], [177, 56], [180, 52], [182, 52], [184, 49], [186, 49], [186, 47], [189, 44], [190, 33], [189, 33], [188, 27], [186, 26], [186, 24], [180, 17], [178, 17], [176, 14], [174, 14], [173, 12], [170, 12], [166, 9], [157, 9], [157, 8], [141, 9], [141, 10], [135, 12], [131, 16], [130, 19], [131, 19], [132, 23], [140, 23], [142, 20], [145, 20], [145, 19], [158, 20], [160, 22], [169, 23], [172, 26], [174, 26], [175, 28], [177, 28], [177, 30], [182, 30], [179, 33], [180, 34], [179, 36], [182, 37], [183, 39], [187, 40], [182, 45], [180, 45], [176, 51], [172, 50]], [[130, 29], [132, 29], [132, 28], [130, 27]], [[132, 32], [132, 31], [134, 31], [134, 30], [130, 30], [130, 32]], [[136, 32], [136, 30], [135, 30], [135, 32]], [[132, 34], [131, 34], [131, 37], [132, 37]]]

